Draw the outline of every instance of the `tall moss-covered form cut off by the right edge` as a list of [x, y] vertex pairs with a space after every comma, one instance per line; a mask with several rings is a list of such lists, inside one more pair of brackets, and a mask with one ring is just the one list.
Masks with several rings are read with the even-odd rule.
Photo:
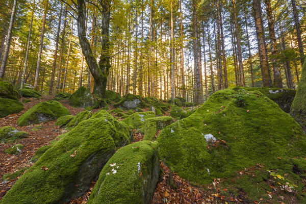
[[297, 86], [297, 92], [291, 106], [290, 115], [306, 132], [306, 63], [304, 63], [302, 67], [301, 79]]

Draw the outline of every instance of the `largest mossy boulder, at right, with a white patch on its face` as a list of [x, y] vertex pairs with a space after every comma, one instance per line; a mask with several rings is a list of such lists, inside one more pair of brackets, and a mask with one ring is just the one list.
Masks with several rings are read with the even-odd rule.
[[177, 174], [207, 184], [257, 164], [296, 182], [293, 166], [306, 170], [305, 139], [298, 123], [261, 92], [224, 89], [167, 126], [157, 141], [161, 159]]

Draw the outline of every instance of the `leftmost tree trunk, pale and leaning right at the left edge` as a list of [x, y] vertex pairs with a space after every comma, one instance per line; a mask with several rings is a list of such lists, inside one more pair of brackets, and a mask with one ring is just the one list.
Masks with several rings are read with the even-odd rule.
[[9, 29], [8, 29], [8, 34], [7, 34], [7, 38], [6, 38], [6, 44], [5, 44], [5, 48], [4, 48], [4, 54], [3, 54], [2, 63], [1, 63], [1, 67], [0, 67], [0, 78], [1, 79], [4, 78], [5, 68], [6, 68], [6, 64], [8, 62], [10, 45], [11, 45], [11, 38], [12, 38], [12, 31], [13, 31], [13, 24], [14, 24], [14, 20], [15, 20], [16, 7], [17, 7], [17, 0], [14, 0], [13, 9], [12, 9], [12, 13], [11, 13], [10, 24], [9, 24]]

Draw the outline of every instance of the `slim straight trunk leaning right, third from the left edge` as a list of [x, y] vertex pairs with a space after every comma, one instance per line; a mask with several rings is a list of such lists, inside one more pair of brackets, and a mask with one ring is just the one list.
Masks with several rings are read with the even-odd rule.
[[44, 7], [43, 18], [42, 18], [41, 34], [40, 34], [40, 41], [39, 41], [39, 49], [38, 49], [38, 56], [37, 56], [37, 64], [36, 64], [36, 71], [35, 71], [35, 79], [34, 79], [34, 89], [38, 88], [40, 60], [41, 60], [41, 54], [42, 54], [42, 45], [43, 45], [47, 10], [48, 10], [48, 0], [45, 0], [45, 7]]

